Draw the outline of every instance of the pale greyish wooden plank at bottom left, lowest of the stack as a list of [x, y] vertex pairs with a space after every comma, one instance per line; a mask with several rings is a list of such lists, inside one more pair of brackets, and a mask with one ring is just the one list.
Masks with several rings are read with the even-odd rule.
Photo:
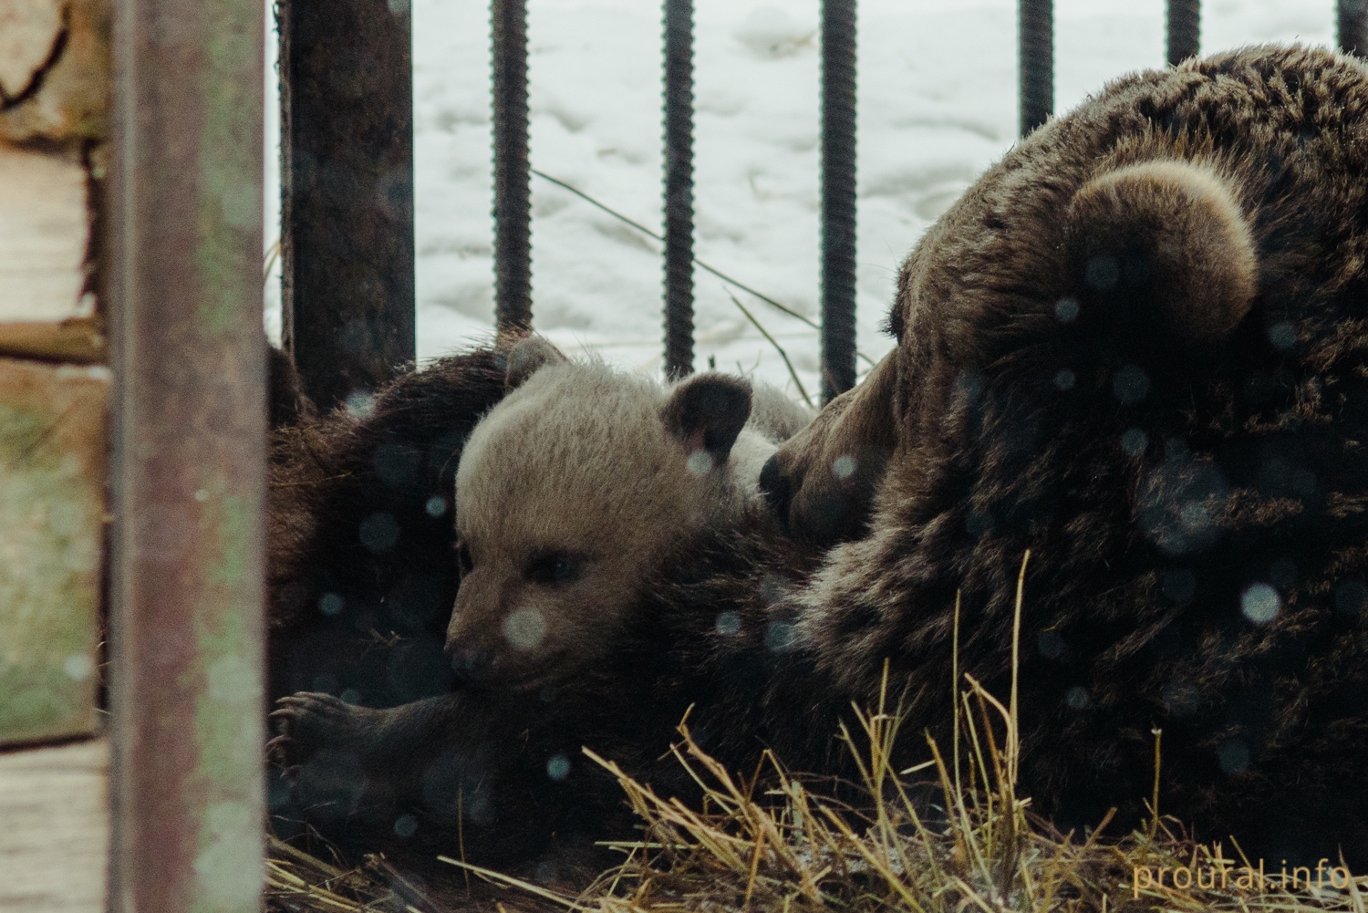
[[0, 753], [0, 910], [101, 913], [109, 745]]

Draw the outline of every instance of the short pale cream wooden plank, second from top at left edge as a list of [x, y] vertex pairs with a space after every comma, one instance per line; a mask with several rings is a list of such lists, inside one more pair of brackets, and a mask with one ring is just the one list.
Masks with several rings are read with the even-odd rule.
[[81, 163], [0, 144], [0, 323], [90, 316], [88, 240]]

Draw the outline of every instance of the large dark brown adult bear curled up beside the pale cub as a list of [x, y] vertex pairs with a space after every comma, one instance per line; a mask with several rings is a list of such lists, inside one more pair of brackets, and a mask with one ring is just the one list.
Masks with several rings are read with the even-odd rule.
[[464, 819], [468, 854], [536, 862], [625, 827], [581, 745], [684, 791], [657, 758], [692, 705], [731, 767], [769, 746], [843, 773], [836, 720], [885, 658], [915, 762], [948, 738], [956, 593], [960, 669], [1007, 691], [1031, 549], [1038, 812], [1134, 824], [1161, 728], [1161, 806], [1200, 836], [1368, 868], [1365, 114], [1357, 62], [1254, 48], [1037, 130], [904, 264], [896, 350], [777, 454], [791, 531], [841, 541], [815, 569], [757, 524], [676, 556], [550, 691], [287, 698], [295, 790], [376, 838], [449, 847]]

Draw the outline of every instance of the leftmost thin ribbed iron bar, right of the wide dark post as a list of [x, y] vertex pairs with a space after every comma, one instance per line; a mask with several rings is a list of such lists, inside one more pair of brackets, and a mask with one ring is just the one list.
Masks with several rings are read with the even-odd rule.
[[532, 203], [527, 156], [527, 0], [492, 0], [494, 312], [499, 331], [532, 326]]

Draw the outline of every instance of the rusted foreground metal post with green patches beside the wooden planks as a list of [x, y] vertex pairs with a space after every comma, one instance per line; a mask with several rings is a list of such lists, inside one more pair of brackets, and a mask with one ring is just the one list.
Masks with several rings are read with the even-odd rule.
[[264, 814], [261, 5], [114, 5], [109, 909], [252, 913]]

